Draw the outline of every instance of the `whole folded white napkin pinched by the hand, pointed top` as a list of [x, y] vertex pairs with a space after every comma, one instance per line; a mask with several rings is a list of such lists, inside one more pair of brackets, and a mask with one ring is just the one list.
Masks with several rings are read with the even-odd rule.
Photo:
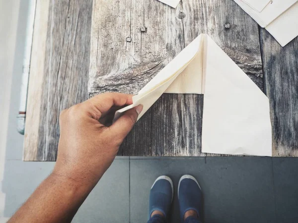
[[142, 117], [162, 93], [204, 94], [202, 152], [272, 155], [268, 98], [208, 35], [170, 61], [115, 119], [140, 104]]

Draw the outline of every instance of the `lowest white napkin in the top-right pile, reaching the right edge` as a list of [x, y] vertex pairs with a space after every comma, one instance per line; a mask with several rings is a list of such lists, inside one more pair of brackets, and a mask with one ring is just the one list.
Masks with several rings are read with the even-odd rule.
[[265, 27], [282, 47], [298, 36], [298, 2]]

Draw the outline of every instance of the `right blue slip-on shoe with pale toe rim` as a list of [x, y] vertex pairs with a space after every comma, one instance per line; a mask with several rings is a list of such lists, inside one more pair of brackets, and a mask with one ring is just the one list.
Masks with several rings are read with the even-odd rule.
[[189, 210], [194, 210], [200, 218], [202, 210], [201, 187], [195, 177], [183, 175], [178, 184], [178, 200], [180, 217], [184, 222], [184, 214]]

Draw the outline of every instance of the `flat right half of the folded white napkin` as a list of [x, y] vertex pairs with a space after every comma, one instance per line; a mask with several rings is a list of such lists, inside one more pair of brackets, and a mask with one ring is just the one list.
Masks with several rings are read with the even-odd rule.
[[202, 152], [272, 156], [269, 101], [208, 37]]

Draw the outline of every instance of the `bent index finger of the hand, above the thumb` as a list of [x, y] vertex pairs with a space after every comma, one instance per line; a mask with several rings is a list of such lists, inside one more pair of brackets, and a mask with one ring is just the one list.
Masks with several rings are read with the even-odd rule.
[[113, 106], [121, 107], [133, 103], [132, 95], [121, 93], [105, 93], [96, 95], [93, 98], [83, 102], [90, 110], [93, 118], [99, 119], [102, 114], [109, 111]]

